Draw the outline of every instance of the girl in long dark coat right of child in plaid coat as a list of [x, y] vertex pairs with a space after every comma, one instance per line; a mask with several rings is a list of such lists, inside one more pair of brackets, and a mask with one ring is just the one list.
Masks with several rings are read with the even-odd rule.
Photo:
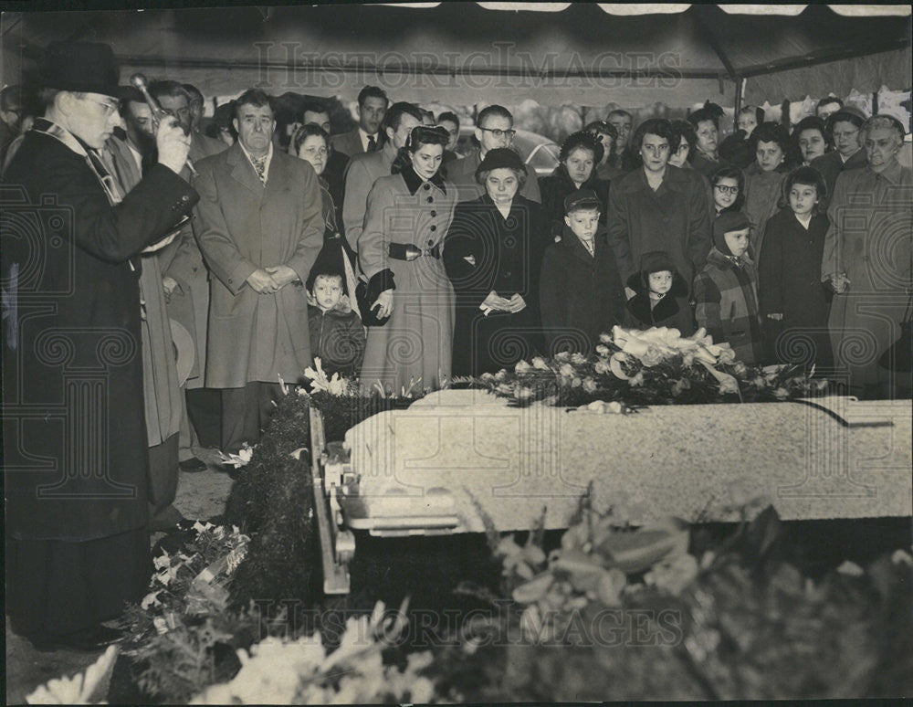
[[827, 292], [821, 281], [829, 221], [819, 211], [824, 177], [800, 167], [786, 178], [784, 208], [767, 222], [758, 263], [761, 337], [769, 364], [832, 362]]

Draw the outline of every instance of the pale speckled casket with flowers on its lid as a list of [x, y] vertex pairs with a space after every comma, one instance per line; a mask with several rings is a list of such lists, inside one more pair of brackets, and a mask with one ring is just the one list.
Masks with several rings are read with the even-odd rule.
[[346, 525], [380, 535], [567, 527], [591, 488], [635, 521], [909, 516], [908, 400], [652, 406], [626, 415], [446, 390], [349, 430]]

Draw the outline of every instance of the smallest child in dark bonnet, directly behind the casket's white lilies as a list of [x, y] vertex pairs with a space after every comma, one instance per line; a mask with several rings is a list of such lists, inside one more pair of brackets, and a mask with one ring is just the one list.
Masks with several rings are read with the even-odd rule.
[[640, 259], [640, 272], [628, 278], [636, 292], [627, 301], [624, 325], [634, 329], [667, 326], [682, 336], [694, 333], [694, 311], [687, 302], [687, 284], [665, 250], [652, 250]]

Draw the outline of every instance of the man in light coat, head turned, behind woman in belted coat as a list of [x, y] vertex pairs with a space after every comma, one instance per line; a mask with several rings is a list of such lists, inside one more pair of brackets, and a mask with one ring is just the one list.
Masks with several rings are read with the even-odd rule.
[[356, 154], [345, 174], [345, 199], [342, 202], [342, 226], [345, 238], [358, 249], [358, 237], [364, 226], [364, 212], [368, 206], [368, 192], [380, 177], [389, 176], [396, 159], [396, 152], [405, 145], [406, 138], [416, 125], [422, 124], [422, 113], [412, 103], [394, 103], [383, 118], [383, 132], [387, 140], [376, 153]]

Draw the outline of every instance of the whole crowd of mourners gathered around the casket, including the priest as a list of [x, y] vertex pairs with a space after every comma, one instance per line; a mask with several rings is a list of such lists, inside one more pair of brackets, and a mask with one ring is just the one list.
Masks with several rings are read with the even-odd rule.
[[[68, 371], [94, 366], [110, 432], [91, 504], [53, 493], [42, 504], [40, 473], [7, 473], [8, 606], [37, 642], [105, 640], [98, 621], [148, 579], [142, 531], [175, 520], [178, 468], [204, 467], [201, 444], [256, 443], [279, 379], [298, 382], [316, 358], [366, 391], [399, 393], [533, 354], [591, 354], [616, 324], [703, 327], [745, 363], [843, 372], [848, 391], [876, 396], [878, 357], [905, 317], [905, 126], [833, 96], [792, 131], [746, 106], [723, 140], [713, 104], [636, 126], [611, 111], [537, 176], [497, 104], [477, 112], [459, 156], [455, 113], [374, 86], [349, 132], [327, 103], [289, 115], [250, 89], [207, 135], [199, 90], [152, 81], [170, 116], [158, 120], [121, 85], [110, 47], [53, 44], [38, 76], [31, 114], [18, 89], [2, 94], [4, 184], [43, 208], [53, 195], [69, 216], [45, 227], [75, 248], [45, 232], [36, 274], [36, 244], [4, 236], [5, 307], [18, 302], [4, 315], [16, 322], [5, 396], [59, 403]], [[64, 294], [29, 312], [29, 292]], [[182, 342], [189, 359], [175, 356]], [[59, 422], [25, 417], [7, 449], [59, 447]], [[130, 499], [100, 493], [141, 474], [148, 489]], [[74, 538], [77, 554], [60, 542]], [[74, 594], [64, 576], [112, 555]], [[59, 590], [69, 603], [53, 601]]]

